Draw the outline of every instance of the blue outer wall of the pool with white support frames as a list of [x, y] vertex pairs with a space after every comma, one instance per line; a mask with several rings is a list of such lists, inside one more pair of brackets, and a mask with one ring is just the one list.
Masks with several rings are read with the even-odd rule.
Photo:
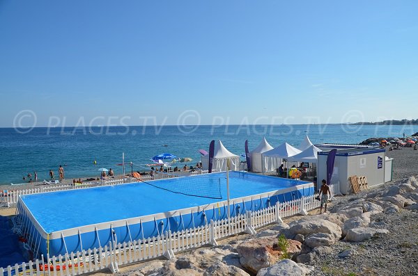
[[[314, 184], [302, 181], [297, 186], [231, 199], [231, 217], [246, 211], [258, 211], [273, 206], [277, 202], [288, 202], [313, 194]], [[34, 218], [22, 198], [19, 199], [17, 204], [17, 212], [20, 218], [22, 221], [28, 222], [25, 232], [29, 233], [29, 241], [31, 241], [33, 252], [38, 255], [49, 254], [50, 256], [98, 248], [109, 245], [109, 242], [123, 243], [124, 241], [158, 236], [169, 230], [178, 232], [183, 229], [199, 227], [210, 223], [210, 220], [227, 218], [227, 209], [227, 201], [224, 200], [204, 206], [47, 233]]]

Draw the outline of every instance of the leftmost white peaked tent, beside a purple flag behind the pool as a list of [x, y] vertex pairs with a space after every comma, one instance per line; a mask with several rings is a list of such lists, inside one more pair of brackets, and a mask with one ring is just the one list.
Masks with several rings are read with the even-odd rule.
[[[229, 163], [230, 170], [240, 170], [240, 156], [229, 152], [221, 140], [215, 141], [215, 152], [213, 154], [213, 165], [212, 170], [216, 172], [224, 172], [227, 169], [226, 161], [230, 159]], [[209, 169], [209, 154], [202, 156], [202, 167], [203, 170]]]

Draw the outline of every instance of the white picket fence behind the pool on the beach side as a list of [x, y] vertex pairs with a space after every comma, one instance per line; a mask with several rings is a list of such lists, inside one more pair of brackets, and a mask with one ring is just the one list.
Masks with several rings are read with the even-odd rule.
[[[207, 174], [208, 170], [196, 170], [195, 172], [157, 172], [150, 177], [149, 175], [142, 176], [141, 180], [143, 181], [151, 181], [156, 179], [167, 179], [167, 178], [174, 178], [174, 177], [185, 177], [189, 175], [196, 175], [196, 174]], [[118, 185], [123, 183], [131, 183], [137, 182], [137, 179], [132, 177], [125, 177], [125, 181], [123, 178], [117, 179], [103, 179], [97, 181], [89, 181], [83, 184], [78, 184], [73, 186], [71, 184], [55, 184], [51, 186], [32, 186], [31, 188], [26, 189], [16, 189], [16, 190], [0, 190], [0, 206], [3, 204], [4, 206], [10, 206], [12, 204], [17, 204], [20, 195], [32, 195], [35, 193], [45, 193], [45, 192], [53, 192], [57, 190], [74, 190], [74, 189], [82, 189], [82, 188], [91, 188], [91, 187], [98, 187], [98, 186], [111, 186], [111, 185]], [[1, 276], [1, 275], [0, 275]]]

